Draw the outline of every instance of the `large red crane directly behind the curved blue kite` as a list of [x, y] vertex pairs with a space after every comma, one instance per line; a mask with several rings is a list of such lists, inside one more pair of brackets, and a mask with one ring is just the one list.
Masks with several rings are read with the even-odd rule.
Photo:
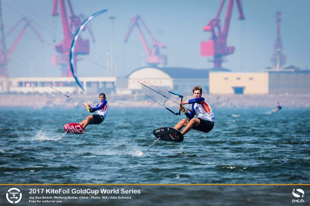
[[[56, 52], [59, 53], [60, 55], [53, 55], [51, 59], [51, 63], [53, 66], [55, 65], [61, 66], [62, 77], [72, 77], [73, 75], [72, 75], [70, 65], [69, 65], [69, 53], [70, 53], [70, 47], [71, 47], [73, 36], [75, 35], [78, 28], [82, 24], [82, 21], [80, 18], [82, 17], [82, 15], [80, 16], [75, 15], [73, 12], [70, 0], [67, 0], [68, 6], [70, 9], [70, 16], [69, 16], [69, 19], [67, 19], [67, 11], [66, 11], [65, 2], [64, 0], [59, 0], [59, 2], [60, 2], [60, 13], [61, 13], [64, 39], [59, 44], [55, 45]], [[59, 15], [57, 11], [57, 6], [58, 6], [58, 0], [54, 0], [52, 16]], [[85, 29], [86, 28], [84, 28], [82, 31], [85, 31]], [[91, 32], [91, 35], [92, 35], [92, 32]], [[81, 37], [79, 37], [75, 44], [74, 54], [77, 54], [77, 55], [78, 54], [83, 54], [83, 55], [89, 54], [89, 40], [88, 39], [83, 40]], [[81, 59], [77, 59], [76, 56], [73, 57], [74, 65], [76, 65], [76, 62], [78, 60], [81, 60]]]

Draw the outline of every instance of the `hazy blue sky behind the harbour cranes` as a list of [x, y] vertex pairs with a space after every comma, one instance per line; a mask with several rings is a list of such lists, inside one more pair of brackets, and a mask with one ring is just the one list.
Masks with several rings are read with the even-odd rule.
[[[116, 17], [114, 65], [127, 74], [141, 67], [141, 54], [144, 54], [144, 48], [136, 28], [128, 42], [124, 43], [130, 19], [140, 15], [155, 39], [167, 45], [167, 48], [161, 50], [162, 54], [168, 56], [167, 66], [201, 69], [213, 67], [213, 63], [207, 61], [211, 57], [200, 56], [200, 42], [210, 38], [210, 32], [203, 32], [203, 27], [216, 16], [221, 0], [72, 0], [71, 3], [76, 15], [82, 13], [86, 17], [102, 9], [108, 10], [91, 21], [96, 42], [90, 41], [91, 52], [88, 57], [100, 65], [106, 66], [107, 61], [110, 61], [105, 54], [110, 53], [111, 21], [108, 17], [113, 15]], [[220, 16], [222, 25], [227, 5], [228, 1]], [[41, 43], [28, 36], [22, 36], [10, 58], [8, 65], [10, 77], [60, 76], [59, 66], [51, 66], [51, 56], [56, 52], [50, 44], [59, 43], [60, 40], [57, 38], [63, 39], [62, 23], [60, 15], [52, 17], [52, 7], [52, 0], [2, 0], [6, 33], [9, 30], [7, 27], [13, 27], [24, 15], [37, 24], [33, 26], [43, 40], [48, 42], [48, 44]], [[69, 16], [67, 3], [66, 8]], [[296, 65], [301, 69], [310, 69], [310, 1], [246, 0], [242, 1], [242, 8], [245, 16], [243, 21], [238, 20], [237, 4], [234, 1], [227, 44], [235, 46], [235, 53], [226, 56], [228, 61], [224, 62], [222, 67], [235, 72], [260, 72], [271, 65], [270, 58], [277, 36], [276, 12], [281, 11], [281, 39], [287, 64]], [[58, 12], [60, 12], [60, 6], [58, 6]], [[21, 30], [23, 26], [24, 23], [17, 29]], [[144, 29], [143, 32], [151, 48], [151, 40]], [[36, 36], [30, 27], [25, 30], [25, 33], [32, 37]], [[56, 42], [53, 42], [51, 33], [56, 36], [54, 37]], [[12, 32], [6, 38], [7, 48], [11, 47], [17, 36], [18, 33]], [[83, 39], [91, 40], [87, 31], [82, 32], [81, 36]], [[31, 68], [30, 64], [34, 68]], [[105, 68], [91, 61], [79, 61], [77, 68], [79, 76], [111, 75]]]

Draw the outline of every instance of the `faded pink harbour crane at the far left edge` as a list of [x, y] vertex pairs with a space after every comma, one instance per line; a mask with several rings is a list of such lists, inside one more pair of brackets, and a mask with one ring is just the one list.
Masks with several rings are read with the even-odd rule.
[[[1, 11], [1, 9], [0, 9]], [[22, 23], [25, 22], [26, 24], [24, 25], [22, 30], [17, 30], [16, 27]], [[19, 22], [17, 22], [15, 24], [14, 27], [11, 27], [10, 31], [4, 35], [4, 26], [3, 26], [3, 20], [2, 20], [2, 14], [1, 14], [1, 40], [0, 40], [0, 45], [1, 45], [1, 49], [0, 49], [0, 77], [9, 77], [9, 72], [8, 72], [8, 68], [7, 68], [7, 64], [9, 63], [9, 59], [11, 57], [11, 54], [13, 53], [15, 47], [17, 46], [20, 38], [23, 36], [24, 31], [27, 27], [31, 27], [31, 29], [33, 30], [33, 32], [38, 36], [39, 40], [43, 41], [40, 34], [31, 26], [30, 24], [31, 22], [26, 19], [26, 18], [22, 18], [19, 20]], [[19, 35], [18, 37], [15, 39], [14, 43], [12, 44], [12, 46], [7, 49], [6, 48], [6, 37], [12, 32], [12, 31], [18, 31]]]

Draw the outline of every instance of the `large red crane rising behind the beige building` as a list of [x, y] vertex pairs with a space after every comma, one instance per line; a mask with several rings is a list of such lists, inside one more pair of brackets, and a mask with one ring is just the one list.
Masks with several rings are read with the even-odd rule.
[[[243, 20], [244, 16], [240, 0], [236, 1], [239, 10], [239, 19]], [[201, 56], [213, 57], [214, 59], [210, 61], [214, 62], [215, 68], [222, 67], [222, 62], [224, 62], [223, 57], [228, 54], [232, 54], [235, 51], [235, 47], [227, 46], [226, 44], [234, 0], [229, 0], [228, 2], [223, 30], [221, 30], [219, 15], [223, 9], [224, 2], [225, 0], [222, 0], [216, 17], [212, 19], [205, 27], [203, 27], [203, 31], [211, 32], [210, 39], [208, 41], [201, 41], [200, 43]], [[215, 28], [217, 29], [217, 32], [215, 32]]]

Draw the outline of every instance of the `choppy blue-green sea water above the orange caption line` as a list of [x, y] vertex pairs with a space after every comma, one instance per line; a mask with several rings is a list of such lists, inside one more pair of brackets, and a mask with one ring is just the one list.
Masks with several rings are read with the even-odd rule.
[[1, 183], [303, 184], [310, 183], [310, 111], [214, 109], [209, 133], [181, 143], [153, 129], [185, 118], [162, 108], [113, 108], [82, 135], [63, 133], [84, 109], [0, 110]]

